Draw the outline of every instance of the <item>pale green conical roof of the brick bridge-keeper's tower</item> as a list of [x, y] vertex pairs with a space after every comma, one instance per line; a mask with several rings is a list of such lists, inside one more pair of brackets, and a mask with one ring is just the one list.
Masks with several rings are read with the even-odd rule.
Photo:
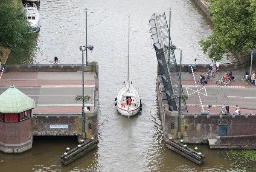
[[21, 113], [35, 107], [35, 100], [11, 85], [0, 95], [0, 113]]

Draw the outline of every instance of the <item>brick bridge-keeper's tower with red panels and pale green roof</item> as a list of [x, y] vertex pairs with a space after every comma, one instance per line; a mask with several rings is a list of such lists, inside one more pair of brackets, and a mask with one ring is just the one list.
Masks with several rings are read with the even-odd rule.
[[32, 148], [31, 114], [35, 100], [14, 85], [0, 95], [0, 151], [21, 153]]

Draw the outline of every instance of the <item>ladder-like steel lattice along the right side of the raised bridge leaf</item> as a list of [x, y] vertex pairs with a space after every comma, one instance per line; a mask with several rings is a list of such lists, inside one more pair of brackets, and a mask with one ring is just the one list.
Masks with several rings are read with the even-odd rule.
[[[172, 40], [171, 36], [169, 35], [169, 28], [166, 22], [166, 16], [165, 14], [158, 14], [157, 15], [157, 21], [159, 23], [160, 28], [160, 34], [163, 40], [163, 49], [164, 54], [166, 56], [166, 62], [168, 62], [169, 65], [169, 77], [172, 82], [172, 90], [175, 94], [179, 95], [180, 93], [180, 75], [177, 68], [177, 63], [175, 59], [175, 54], [173, 51], [172, 46]], [[181, 68], [181, 66], [180, 66]], [[181, 87], [181, 95], [183, 94], [183, 89]], [[170, 95], [172, 96], [172, 95]], [[178, 102], [176, 103], [178, 107]], [[180, 111], [185, 112], [187, 111], [186, 108], [186, 102], [181, 101], [180, 102]]]

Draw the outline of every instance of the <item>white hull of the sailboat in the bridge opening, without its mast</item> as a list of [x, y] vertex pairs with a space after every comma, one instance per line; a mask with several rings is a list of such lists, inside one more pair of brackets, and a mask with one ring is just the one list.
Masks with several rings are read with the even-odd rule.
[[[138, 92], [130, 87], [129, 92], [122, 95], [125, 87], [123, 87], [117, 95], [117, 110], [123, 116], [134, 116], [140, 112], [140, 96]], [[131, 105], [127, 104], [128, 97], [131, 98]]]

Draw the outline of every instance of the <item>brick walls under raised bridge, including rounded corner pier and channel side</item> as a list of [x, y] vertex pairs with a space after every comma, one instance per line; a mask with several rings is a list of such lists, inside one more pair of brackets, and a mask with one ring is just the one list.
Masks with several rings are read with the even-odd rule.
[[[163, 88], [161, 76], [157, 77], [157, 98], [159, 103], [161, 122], [163, 126], [164, 141], [168, 142], [169, 137], [177, 138], [178, 131], [178, 112], [170, 111]], [[172, 129], [171, 123], [174, 123]], [[246, 138], [244, 135], [256, 135], [256, 116], [253, 115], [181, 115], [180, 116], [180, 135], [185, 143], [207, 143], [208, 139], [215, 139], [219, 134], [219, 126], [227, 125], [227, 136], [221, 137], [223, 143], [228, 147], [243, 147]], [[242, 137], [243, 138], [239, 138]], [[236, 138], [232, 141], [232, 137]], [[255, 138], [250, 136], [250, 143]], [[239, 139], [238, 139], [239, 138]], [[222, 142], [221, 142], [222, 143]], [[252, 144], [250, 144], [252, 145]], [[253, 145], [256, 149], [256, 144]]]

